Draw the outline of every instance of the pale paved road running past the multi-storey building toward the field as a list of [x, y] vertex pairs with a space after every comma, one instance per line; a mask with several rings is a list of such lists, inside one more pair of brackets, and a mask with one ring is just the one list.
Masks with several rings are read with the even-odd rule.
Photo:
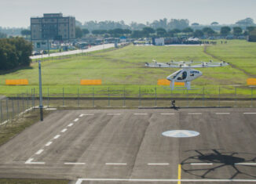
[[52, 53], [52, 54], [43, 54], [43, 55], [38, 55], [38, 56], [31, 56], [30, 58], [33, 59], [40, 59], [40, 58], [45, 58], [45, 57], [54, 57], [54, 56], [67, 56], [67, 55], [72, 55], [72, 54], [79, 54], [83, 52], [92, 52], [92, 51], [97, 51], [97, 50], [102, 50], [102, 49], [108, 49], [114, 47], [115, 44], [104, 44], [104, 45], [96, 45], [93, 47], [90, 47], [89, 49], [79, 49], [79, 50], [72, 50], [72, 51], [67, 51], [67, 52], [57, 52], [57, 53]]

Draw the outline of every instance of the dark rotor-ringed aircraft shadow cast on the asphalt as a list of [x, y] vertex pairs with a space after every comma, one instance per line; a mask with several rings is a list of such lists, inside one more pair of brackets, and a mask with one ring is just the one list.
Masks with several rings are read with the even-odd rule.
[[[188, 150], [196, 153], [181, 162], [181, 168], [189, 175], [203, 179], [228, 179], [243, 177], [256, 179], [255, 153], [230, 153], [214, 150]], [[196, 165], [193, 167], [193, 164]], [[222, 176], [222, 177], [221, 177]]]

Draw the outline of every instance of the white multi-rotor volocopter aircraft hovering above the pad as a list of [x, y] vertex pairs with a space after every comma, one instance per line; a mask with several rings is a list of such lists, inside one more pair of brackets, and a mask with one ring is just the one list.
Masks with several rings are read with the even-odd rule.
[[174, 82], [185, 82], [185, 87], [190, 89], [191, 81], [199, 78], [203, 73], [199, 70], [195, 70], [193, 68], [202, 68], [202, 67], [225, 67], [228, 66], [229, 63], [225, 63], [225, 61], [221, 62], [200, 62], [200, 61], [173, 61], [170, 63], [158, 63], [153, 60], [153, 63], [145, 63], [146, 67], [170, 67], [170, 68], [182, 68], [181, 70], [177, 70], [174, 74], [170, 74], [166, 79], [171, 81], [170, 88], [174, 89]]

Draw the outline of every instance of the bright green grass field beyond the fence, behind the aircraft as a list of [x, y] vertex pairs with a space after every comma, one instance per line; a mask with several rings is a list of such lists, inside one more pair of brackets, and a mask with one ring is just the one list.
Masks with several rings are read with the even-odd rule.
[[[160, 93], [169, 93], [157, 86], [157, 79], [166, 78], [175, 69], [146, 68], [145, 62], [155, 59], [159, 62], [170, 60], [225, 60], [232, 63], [229, 67], [203, 68], [203, 76], [192, 81], [192, 86], [208, 88], [213, 94], [218, 93], [218, 87], [225, 93], [233, 93], [232, 85], [246, 85], [247, 78], [256, 78], [256, 43], [244, 40], [228, 41], [228, 44], [202, 46], [133, 46], [109, 52], [99, 52], [94, 56], [76, 56], [64, 60], [49, 60], [42, 63], [43, 93], [65, 92], [76, 94], [77, 88], [83, 93], [91, 93], [92, 86], [79, 85], [80, 79], [102, 79], [103, 85], [95, 86], [96, 92], [107, 88], [120, 89], [124, 87], [130, 93], [142, 89], [157, 88]], [[27, 86], [6, 86], [5, 79], [27, 78]], [[20, 92], [31, 92], [38, 88], [38, 64], [0, 75], [0, 94], [13, 96]], [[37, 89], [36, 89], [37, 90]], [[249, 88], [241, 87], [240, 93], [251, 94]]]

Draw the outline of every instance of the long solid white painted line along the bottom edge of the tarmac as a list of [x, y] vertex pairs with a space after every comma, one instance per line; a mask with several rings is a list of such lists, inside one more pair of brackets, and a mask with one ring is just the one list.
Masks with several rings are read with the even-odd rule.
[[78, 179], [75, 184], [83, 181], [99, 182], [256, 182], [256, 179]]

